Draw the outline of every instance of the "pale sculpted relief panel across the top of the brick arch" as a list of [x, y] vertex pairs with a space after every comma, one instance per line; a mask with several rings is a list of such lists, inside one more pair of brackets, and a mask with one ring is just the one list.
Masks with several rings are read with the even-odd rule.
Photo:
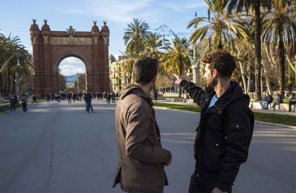
[[92, 45], [92, 38], [50, 38], [50, 44], [53, 45], [65, 45], [65, 44], [70, 44], [70, 45]]

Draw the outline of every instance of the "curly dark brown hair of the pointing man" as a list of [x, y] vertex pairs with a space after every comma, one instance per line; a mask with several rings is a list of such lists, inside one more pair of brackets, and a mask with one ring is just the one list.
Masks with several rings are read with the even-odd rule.
[[225, 80], [231, 77], [232, 72], [236, 68], [234, 57], [226, 50], [219, 49], [208, 53], [204, 56], [202, 61], [209, 64], [211, 72], [216, 69], [221, 78]]

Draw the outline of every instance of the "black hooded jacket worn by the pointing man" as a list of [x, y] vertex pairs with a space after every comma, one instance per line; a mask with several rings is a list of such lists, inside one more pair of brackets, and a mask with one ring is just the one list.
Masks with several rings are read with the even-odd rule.
[[214, 89], [204, 91], [187, 80], [180, 85], [201, 107], [194, 144], [195, 172], [202, 179], [218, 179], [216, 187], [227, 191], [248, 157], [254, 128], [250, 97], [231, 81], [231, 86], [207, 110], [216, 94]]

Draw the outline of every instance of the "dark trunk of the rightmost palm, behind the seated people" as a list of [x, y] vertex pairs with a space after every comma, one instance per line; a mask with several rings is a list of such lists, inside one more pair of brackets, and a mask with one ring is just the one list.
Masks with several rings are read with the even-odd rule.
[[280, 57], [280, 66], [279, 66], [279, 74], [280, 74], [280, 94], [285, 96], [285, 47], [283, 42], [282, 30], [279, 30], [279, 57]]

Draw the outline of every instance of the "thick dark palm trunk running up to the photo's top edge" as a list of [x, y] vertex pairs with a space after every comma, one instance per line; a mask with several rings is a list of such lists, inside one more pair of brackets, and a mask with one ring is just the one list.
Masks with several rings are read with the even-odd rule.
[[260, 1], [254, 1], [255, 10], [255, 101], [262, 101], [261, 96], [261, 18]]

